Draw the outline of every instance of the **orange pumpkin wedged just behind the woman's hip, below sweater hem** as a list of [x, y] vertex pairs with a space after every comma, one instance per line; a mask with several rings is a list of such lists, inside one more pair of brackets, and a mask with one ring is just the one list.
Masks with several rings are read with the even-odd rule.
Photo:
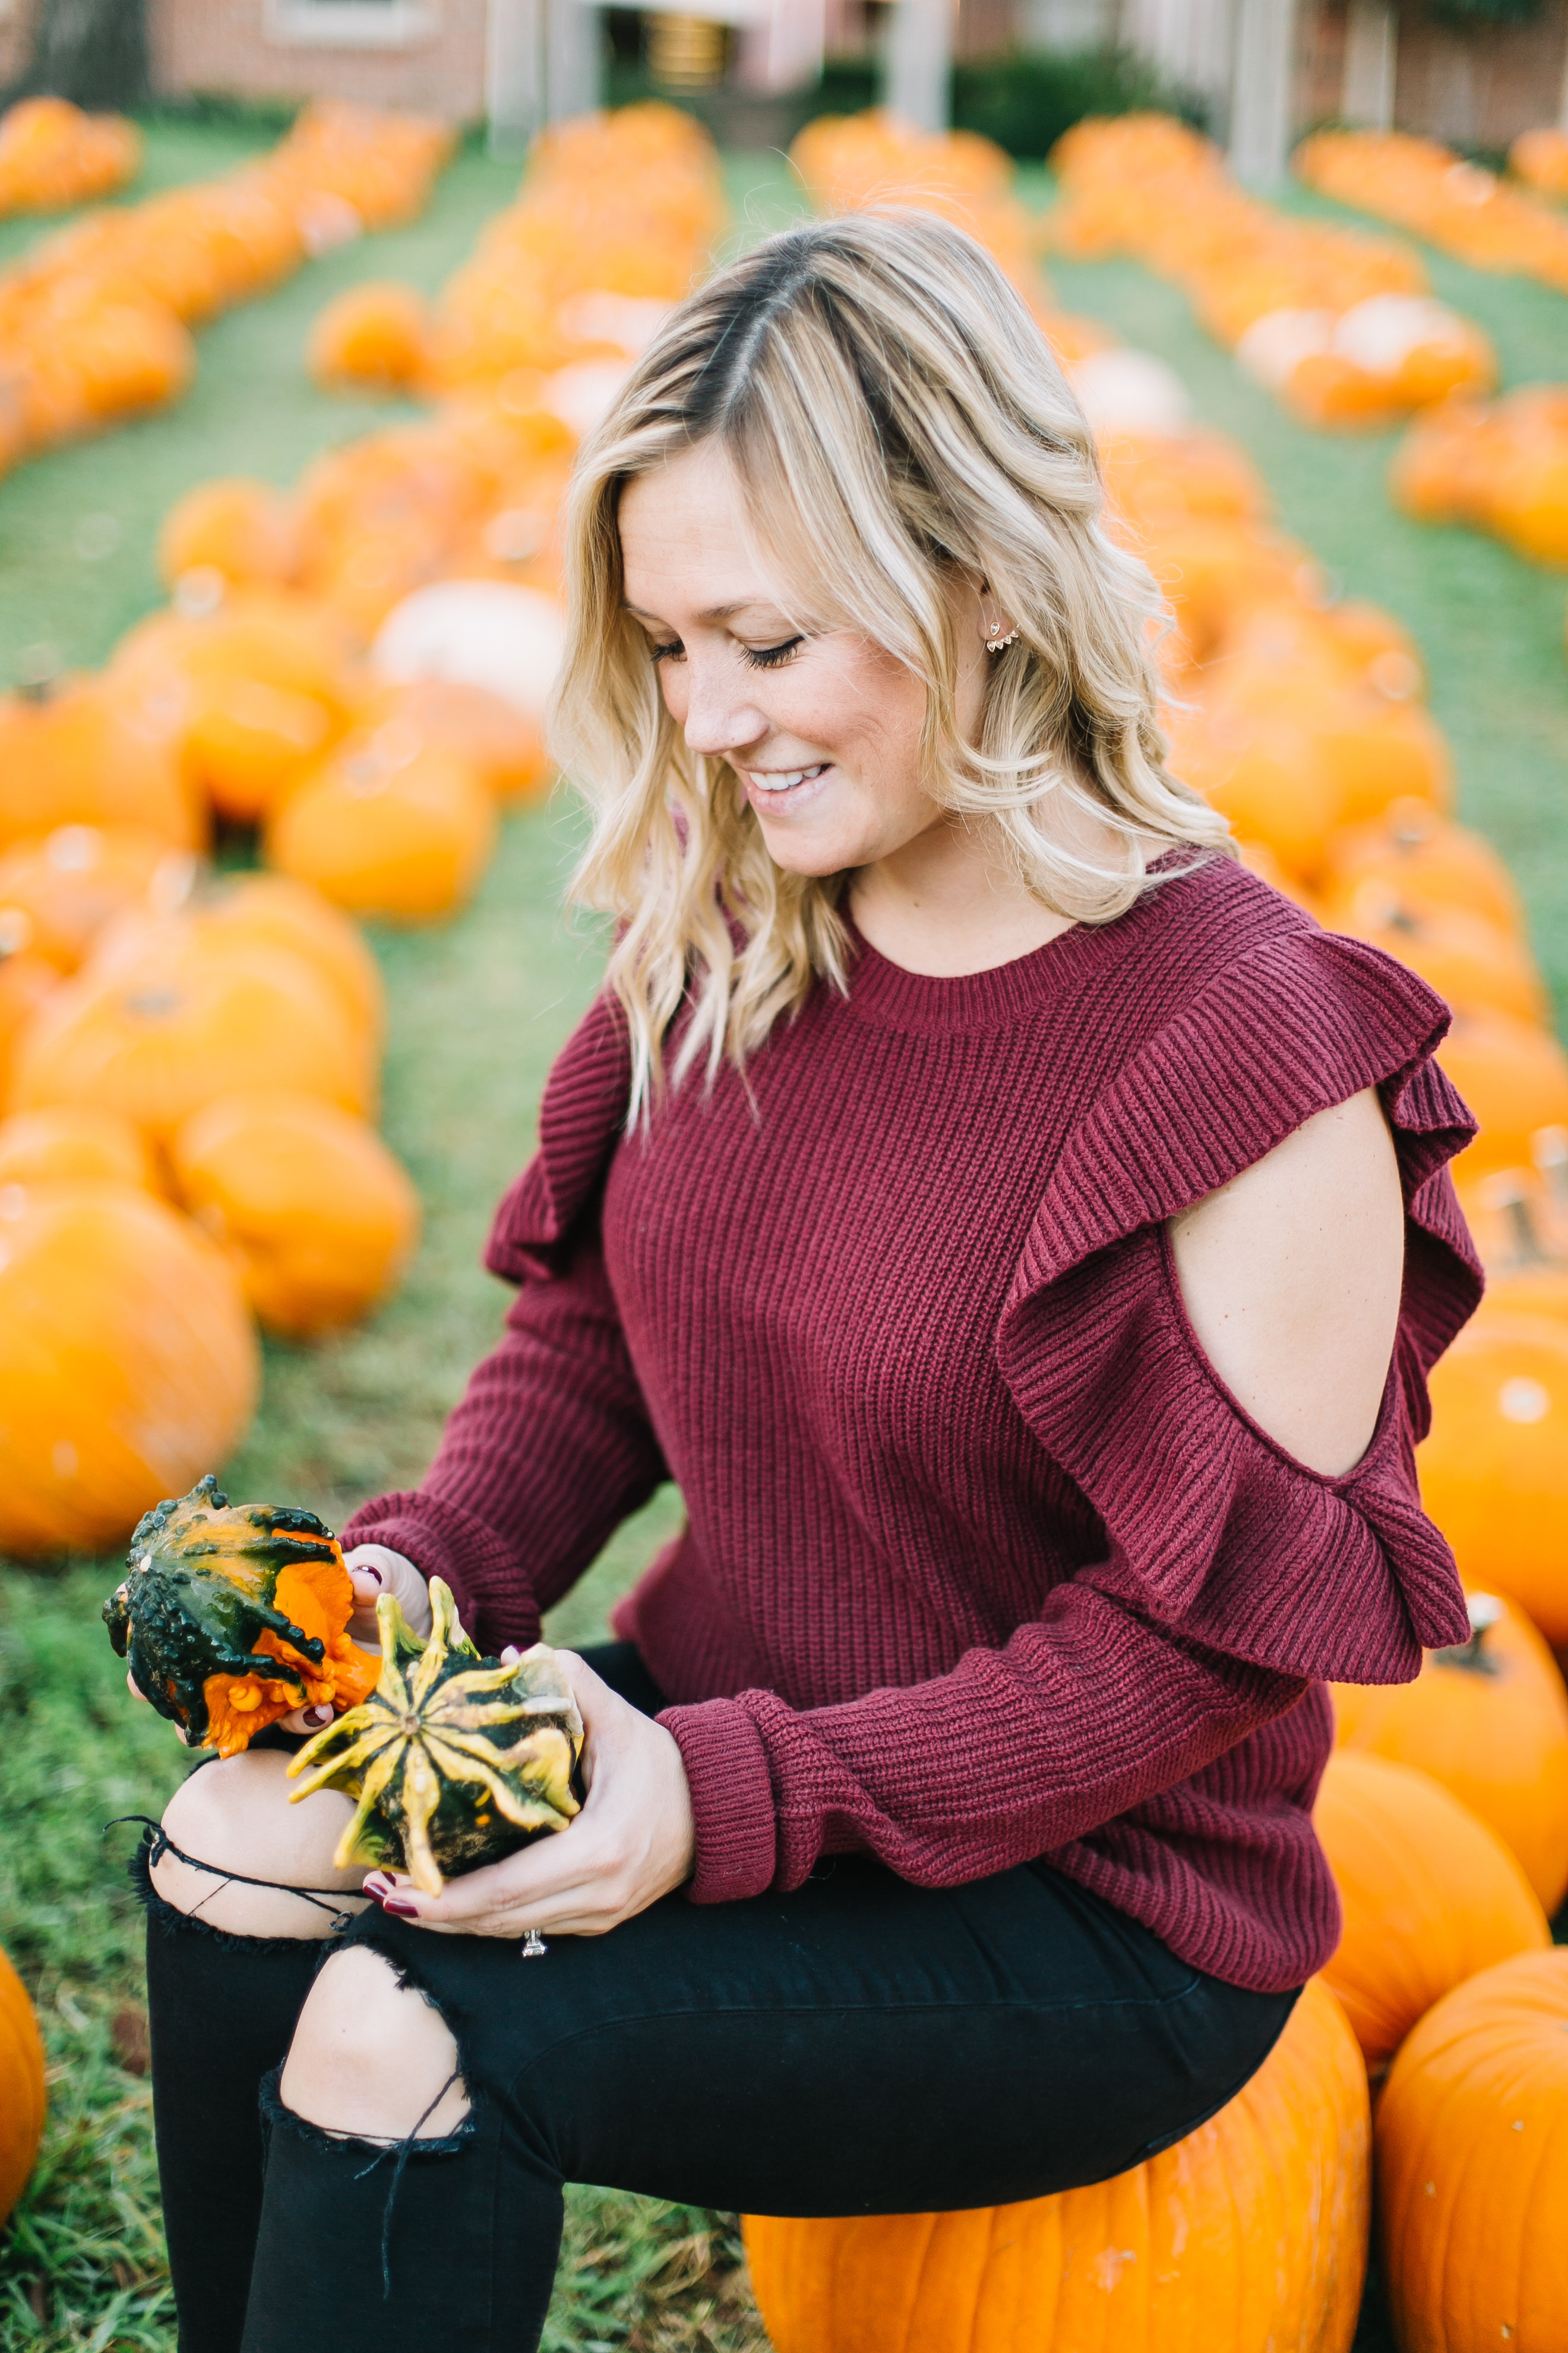
[[1324, 1977], [1373, 2073], [1450, 1986], [1552, 1941], [1509, 1849], [1429, 1774], [1335, 1748], [1312, 1821], [1345, 1911]]

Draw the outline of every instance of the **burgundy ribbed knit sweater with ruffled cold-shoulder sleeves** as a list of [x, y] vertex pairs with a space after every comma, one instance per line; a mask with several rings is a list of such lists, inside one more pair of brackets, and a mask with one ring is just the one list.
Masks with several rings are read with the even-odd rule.
[[[1194, 1965], [1298, 1986], [1338, 1939], [1316, 1678], [1467, 1633], [1413, 1466], [1481, 1292], [1443, 1028], [1225, 859], [969, 979], [858, 944], [849, 995], [632, 1139], [602, 998], [491, 1235], [508, 1334], [425, 1485], [348, 1537], [496, 1649], [675, 1478], [686, 1532], [616, 1626], [677, 1701], [698, 1901], [820, 1854], [929, 1887], [1048, 1857]], [[1371, 1085], [1403, 1315], [1366, 1459], [1321, 1478], [1208, 1367], [1166, 1219]]]

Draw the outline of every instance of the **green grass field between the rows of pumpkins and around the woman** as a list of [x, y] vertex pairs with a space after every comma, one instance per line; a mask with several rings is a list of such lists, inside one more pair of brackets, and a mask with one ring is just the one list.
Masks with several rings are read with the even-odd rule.
[[[155, 125], [146, 186], [221, 172], [266, 139], [235, 127]], [[0, 485], [0, 680], [28, 649], [103, 659], [158, 602], [153, 539], [167, 504], [214, 473], [287, 482], [324, 445], [388, 409], [320, 395], [301, 369], [317, 306], [362, 275], [435, 287], [515, 186], [515, 167], [465, 151], [411, 228], [301, 271], [200, 334], [200, 379], [167, 416], [21, 468]], [[743, 231], [792, 209], [778, 158], [729, 165]], [[1039, 184], [1034, 184], [1039, 193]], [[1314, 200], [1302, 200], [1309, 209]], [[0, 261], [38, 235], [0, 224]], [[1422, 532], [1382, 494], [1387, 438], [1328, 440], [1291, 426], [1192, 325], [1185, 301], [1131, 266], [1056, 268], [1060, 299], [1161, 351], [1199, 416], [1260, 459], [1281, 520], [1347, 593], [1389, 605], [1420, 638], [1432, 701], [1460, 760], [1465, 814], [1507, 852], [1535, 944], [1568, 1002], [1568, 671], [1563, 581], [1465, 532]], [[1497, 336], [1509, 381], [1561, 372], [1559, 296], [1434, 261], [1439, 292]], [[393, 412], [395, 414], [395, 412]], [[113, 515], [110, 555], [82, 553]], [[564, 805], [515, 819], [475, 908], [437, 932], [378, 936], [390, 1002], [386, 1132], [425, 1200], [425, 1245], [402, 1297], [362, 1332], [310, 1351], [268, 1348], [256, 1428], [228, 1466], [240, 1494], [339, 1520], [364, 1494], [418, 1478], [440, 1421], [498, 1327], [503, 1297], [477, 1254], [489, 1209], [531, 1148], [543, 1073], [588, 1002], [595, 934], [559, 908], [578, 842]], [[557, 1640], [590, 1640], [607, 1602], [675, 1525], [665, 1494], [623, 1529], [555, 1612]], [[132, 1708], [96, 1624], [115, 1562], [0, 1567], [0, 1944], [35, 1988], [52, 2061], [45, 2158], [0, 2240], [0, 2353], [172, 2353], [148, 2097], [139, 2073], [139, 1915], [122, 1880], [132, 1831], [155, 1814], [181, 1758]], [[581, 2191], [550, 2322], [550, 2353], [762, 2344], [736, 2278], [729, 2226], [705, 2214]], [[1361, 2353], [1382, 2344], [1368, 2304]]]

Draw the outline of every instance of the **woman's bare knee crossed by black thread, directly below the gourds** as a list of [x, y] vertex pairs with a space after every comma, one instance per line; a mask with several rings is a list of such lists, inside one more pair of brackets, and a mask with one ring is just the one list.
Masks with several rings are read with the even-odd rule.
[[[343, 1889], [348, 1911], [364, 1908], [357, 1899], [364, 1871], [339, 1871], [331, 1861], [353, 1805], [336, 1791], [289, 1805], [294, 1784], [287, 1765], [282, 1751], [256, 1748], [202, 1765], [174, 1791], [165, 1831], [183, 1854], [219, 1875], [165, 1852], [153, 1864], [153, 1887], [165, 1904], [230, 1937], [301, 1939], [329, 1937], [334, 1915], [320, 1901], [289, 1894], [292, 1887]], [[226, 1880], [226, 1871], [240, 1878]], [[275, 1885], [247, 1887], [242, 1880]]]

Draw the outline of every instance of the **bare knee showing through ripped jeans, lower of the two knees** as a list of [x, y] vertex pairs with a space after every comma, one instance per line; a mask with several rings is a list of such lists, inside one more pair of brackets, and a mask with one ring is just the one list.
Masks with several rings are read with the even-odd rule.
[[284, 2108], [360, 2141], [440, 2139], [468, 2115], [451, 2028], [381, 1953], [334, 1953], [299, 2014]]

